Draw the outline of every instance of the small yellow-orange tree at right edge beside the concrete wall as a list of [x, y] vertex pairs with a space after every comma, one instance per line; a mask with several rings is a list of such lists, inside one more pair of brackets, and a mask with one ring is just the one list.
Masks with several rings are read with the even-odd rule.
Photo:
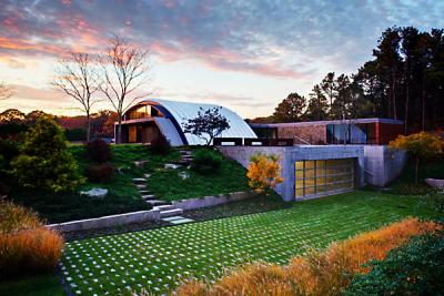
[[438, 159], [444, 155], [444, 141], [425, 132], [407, 136], [400, 135], [395, 141], [390, 142], [390, 146], [404, 149], [415, 159], [415, 184], [417, 184], [420, 161]]

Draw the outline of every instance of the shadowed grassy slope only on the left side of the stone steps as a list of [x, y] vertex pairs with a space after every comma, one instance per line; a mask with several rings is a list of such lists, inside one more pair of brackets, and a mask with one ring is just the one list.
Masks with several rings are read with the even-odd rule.
[[[84, 171], [88, 165], [84, 147], [72, 145], [70, 150], [79, 163], [79, 170]], [[133, 162], [149, 157], [148, 150], [141, 145], [121, 145], [112, 146], [112, 152], [114, 166], [128, 167], [128, 170], [124, 174], [115, 173], [108, 183], [89, 182], [70, 193], [18, 191], [12, 194], [13, 200], [34, 208], [50, 223], [149, 210], [150, 206], [140, 198], [132, 183], [132, 177], [142, 174], [134, 167]], [[77, 193], [93, 187], [108, 188], [109, 195], [103, 201], [99, 201], [79, 196]]]

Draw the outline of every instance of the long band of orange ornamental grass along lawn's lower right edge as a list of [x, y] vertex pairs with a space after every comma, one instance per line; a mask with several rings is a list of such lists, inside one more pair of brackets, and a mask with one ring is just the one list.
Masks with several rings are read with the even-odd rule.
[[364, 263], [386, 253], [414, 235], [433, 233], [442, 225], [406, 218], [377, 231], [332, 244], [324, 252], [294, 257], [287, 266], [255, 263], [223, 276], [214, 285], [189, 282], [176, 295], [339, 295], [353, 275], [369, 272]]

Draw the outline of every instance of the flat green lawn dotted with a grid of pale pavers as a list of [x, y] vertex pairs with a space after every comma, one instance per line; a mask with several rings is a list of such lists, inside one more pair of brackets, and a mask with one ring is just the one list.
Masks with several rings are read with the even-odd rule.
[[115, 295], [141, 287], [162, 294], [183, 278], [211, 280], [224, 267], [249, 261], [285, 264], [309, 247], [430, 214], [416, 197], [360, 191], [281, 211], [72, 242], [61, 268], [74, 294]]

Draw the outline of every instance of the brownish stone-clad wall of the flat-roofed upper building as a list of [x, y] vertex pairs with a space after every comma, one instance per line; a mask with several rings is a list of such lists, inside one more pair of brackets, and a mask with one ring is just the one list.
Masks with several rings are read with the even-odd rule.
[[310, 144], [326, 143], [326, 125], [297, 125], [297, 126], [279, 126], [278, 137], [295, 139], [296, 144], [306, 144], [297, 137], [305, 140]]

